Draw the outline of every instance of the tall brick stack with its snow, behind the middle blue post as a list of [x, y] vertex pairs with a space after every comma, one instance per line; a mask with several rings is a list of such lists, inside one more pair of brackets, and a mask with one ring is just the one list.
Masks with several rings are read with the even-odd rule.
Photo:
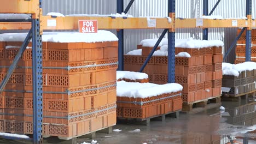
[[[142, 55], [143, 47], [154, 46], [154, 43], [155, 39], [142, 40], [141, 44], [137, 46], [141, 51], [135, 50], [129, 52], [129, 55], [125, 55], [125, 70], [138, 71], [147, 57]], [[143, 73], [148, 74], [149, 82], [164, 84], [168, 79], [166, 39], [163, 39], [159, 46], [160, 50], [155, 51]], [[218, 97], [222, 82], [222, 47], [224, 43], [220, 40], [207, 41], [190, 38], [177, 39], [175, 46], [175, 81], [183, 86], [183, 102], [190, 103]], [[162, 53], [166, 53], [166, 55], [162, 55]]]

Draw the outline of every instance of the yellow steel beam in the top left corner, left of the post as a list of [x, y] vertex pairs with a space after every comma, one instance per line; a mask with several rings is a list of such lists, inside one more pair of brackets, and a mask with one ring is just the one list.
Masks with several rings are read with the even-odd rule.
[[0, 2], [0, 13], [38, 14], [38, 0], [7, 0]]

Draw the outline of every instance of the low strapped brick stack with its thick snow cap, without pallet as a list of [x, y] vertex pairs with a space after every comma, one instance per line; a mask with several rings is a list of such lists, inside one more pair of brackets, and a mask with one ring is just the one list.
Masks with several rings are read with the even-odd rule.
[[182, 86], [177, 83], [156, 85], [119, 81], [117, 116], [149, 118], [182, 109]]

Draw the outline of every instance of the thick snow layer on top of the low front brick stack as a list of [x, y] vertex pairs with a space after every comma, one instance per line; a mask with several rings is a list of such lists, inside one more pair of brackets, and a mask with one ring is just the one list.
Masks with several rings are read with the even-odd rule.
[[129, 98], [148, 98], [164, 93], [182, 91], [183, 87], [178, 83], [167, 83], [165, 85], [156, 85], [154, 83], [138, 82], [117, 82], [117, 96]]

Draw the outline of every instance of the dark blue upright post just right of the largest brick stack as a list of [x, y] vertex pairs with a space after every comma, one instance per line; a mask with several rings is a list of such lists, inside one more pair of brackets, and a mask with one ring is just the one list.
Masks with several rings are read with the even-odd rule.
[[[117, 13], [124, 12], [124, 0], [117, 0]], [[124, 29], [117, 29], [118, 37], [118, 70], [124, 70]]]

